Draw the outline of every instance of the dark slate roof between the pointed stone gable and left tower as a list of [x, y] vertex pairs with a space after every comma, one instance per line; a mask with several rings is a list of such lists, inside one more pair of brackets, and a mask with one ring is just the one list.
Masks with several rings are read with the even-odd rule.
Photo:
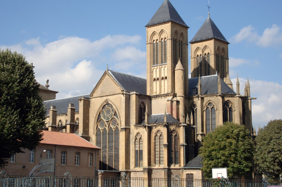
[[129, 75], [113, 70], [109, 70], [109, 73], [120, 84], [126, 92], [137, 92], [139, 94], [147, 94], [147, 80], [142, 77]]

